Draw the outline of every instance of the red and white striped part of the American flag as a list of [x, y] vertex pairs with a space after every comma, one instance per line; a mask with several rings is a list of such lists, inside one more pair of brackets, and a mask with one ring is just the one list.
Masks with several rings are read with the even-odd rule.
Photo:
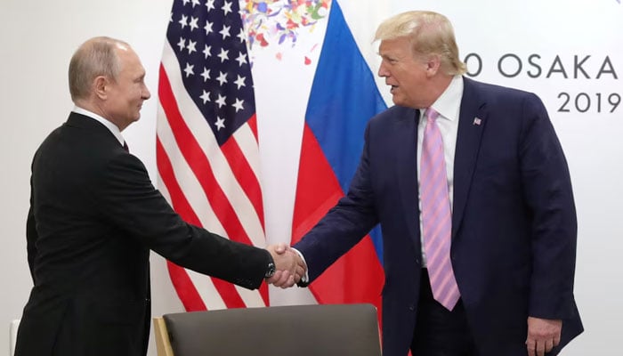
[[[219, 147], [182, 84], [170, 44], [158, 84], [159, 187], [182, 218], [225, 238], [265, 246], [255, 115]], [[247, 290], [168, 263], [186, 310], [268, 305], [268, 289]]]

